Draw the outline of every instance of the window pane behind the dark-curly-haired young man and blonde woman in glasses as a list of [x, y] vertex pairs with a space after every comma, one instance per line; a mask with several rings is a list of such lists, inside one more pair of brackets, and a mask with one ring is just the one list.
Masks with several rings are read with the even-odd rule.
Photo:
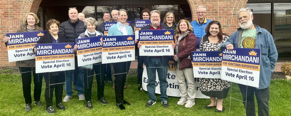
[[164, 17], [168, 12], [173, 12], [175, 15], [175, 22], [179, 22], [178, 5], [152, 5], [152, 10], [160, 11], [161, 22], [164, 22]]

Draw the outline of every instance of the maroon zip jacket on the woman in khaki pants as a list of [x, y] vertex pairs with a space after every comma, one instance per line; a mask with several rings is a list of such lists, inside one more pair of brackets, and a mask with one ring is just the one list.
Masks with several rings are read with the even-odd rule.
[[[175, 34], [174, 36], [174, 42], [177, 44], [177, 40], [179, 38], [179, 34]], [[192, 57], [191, 57], [191, 51], [196, 51], [196, 44], [197, 39], [195, 34], [192, 32], [188, 33], [185, 37], [183, 37], [178, 45], [178, 59], [180, 59], [180, 66], [176, 67], [179, 68], [179, 70], [183, 70], [184, 68], [190, 68], [192, 67]], [[176, 55], [176, 52], [174, 50], [174, 55]], [[190, 59], [187, 58], [190, 55]]]

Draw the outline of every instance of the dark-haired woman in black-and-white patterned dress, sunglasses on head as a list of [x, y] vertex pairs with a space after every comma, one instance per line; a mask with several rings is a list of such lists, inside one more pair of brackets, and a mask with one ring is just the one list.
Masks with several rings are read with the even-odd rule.
[[[206, 35], [202, 37], [199, 51], [218, 51], [221, 43], [226, 42], [229, 38], [221, 29], [221, 24], [218, 21], [210, 22], [205, 28]], [[200, 78], [201, 93], [209, 96], [211, 103], [205, 106], [206, 109], [216, 107], [215, 112], [223, 112], [225, 108], [222, 106], [222, 101], [227, 97], [230, 82], [214, 78]], [[217, 98], [217, 103], [216, 99]]]

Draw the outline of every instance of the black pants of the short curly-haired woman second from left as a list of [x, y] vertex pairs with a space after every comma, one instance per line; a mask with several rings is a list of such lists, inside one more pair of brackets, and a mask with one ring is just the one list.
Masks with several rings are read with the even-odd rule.
[[[46, 108], [52, 106], [53, 95], [55, 90], [56, 104], [62, 102], [63, 86], [65, 82], [64, 73], [59, 72], [56, 76], [45, 76], [45, 103]], [[58, 84], [59, 83], [59, 84]]]

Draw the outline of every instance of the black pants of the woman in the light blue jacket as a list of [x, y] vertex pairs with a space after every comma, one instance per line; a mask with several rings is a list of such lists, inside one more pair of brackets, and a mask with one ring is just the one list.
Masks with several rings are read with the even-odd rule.
[[113, 63], [115, 75], [115, 99], [116, 103], [122, 103], [124, 84], [129, 71], [131, 61]]

